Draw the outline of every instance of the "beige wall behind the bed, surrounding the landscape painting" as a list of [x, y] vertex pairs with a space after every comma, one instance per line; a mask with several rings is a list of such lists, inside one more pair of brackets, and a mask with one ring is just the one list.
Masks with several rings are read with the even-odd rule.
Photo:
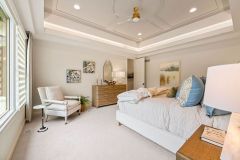
[[180, 61], [181, 80], [191, 74], [206, 75], [209, 66], [239, 62], [240, 38], [158, 54], [148, 58], [150, 62], [146, 63], [147, 87], [159, 86], [159, 64], [162, 62]]

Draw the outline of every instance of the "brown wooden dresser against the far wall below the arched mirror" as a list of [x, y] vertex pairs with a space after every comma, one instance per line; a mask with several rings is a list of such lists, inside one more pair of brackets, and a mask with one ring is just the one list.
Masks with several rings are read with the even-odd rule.
[[117, 103], [117, 95], [127, 90], [126, 84], [93, 85], [93, 106], [100, 107]]

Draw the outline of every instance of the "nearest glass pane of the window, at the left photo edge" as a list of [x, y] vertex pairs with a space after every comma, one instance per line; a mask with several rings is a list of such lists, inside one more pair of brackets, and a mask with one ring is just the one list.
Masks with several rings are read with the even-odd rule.
[[9, 110], [8, 28], [9, 19], [0, 7], [0, 117]]

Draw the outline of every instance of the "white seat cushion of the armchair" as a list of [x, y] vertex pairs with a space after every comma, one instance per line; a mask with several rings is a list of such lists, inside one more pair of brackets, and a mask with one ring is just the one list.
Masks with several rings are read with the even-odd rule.
[[66, 111], [80, 105], [80, 102], [76, 100], [65, 100], [64, 102], [66, 102], [67, 105], [53, 103], [47, 106], [45, 109], [54, 111]]

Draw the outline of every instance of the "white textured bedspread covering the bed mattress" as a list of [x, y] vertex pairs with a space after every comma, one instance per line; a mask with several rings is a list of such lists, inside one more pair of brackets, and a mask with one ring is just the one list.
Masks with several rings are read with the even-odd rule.
[[184, 139], [188, 139], [201, 124], [227, 130], [230, 119], [230, 115], [209, 118], [200, 105], [183, 108], [176, 99], [164, 96], [146, 98], [137, 104], [118, 102], [118, 105], [120, 112]]

